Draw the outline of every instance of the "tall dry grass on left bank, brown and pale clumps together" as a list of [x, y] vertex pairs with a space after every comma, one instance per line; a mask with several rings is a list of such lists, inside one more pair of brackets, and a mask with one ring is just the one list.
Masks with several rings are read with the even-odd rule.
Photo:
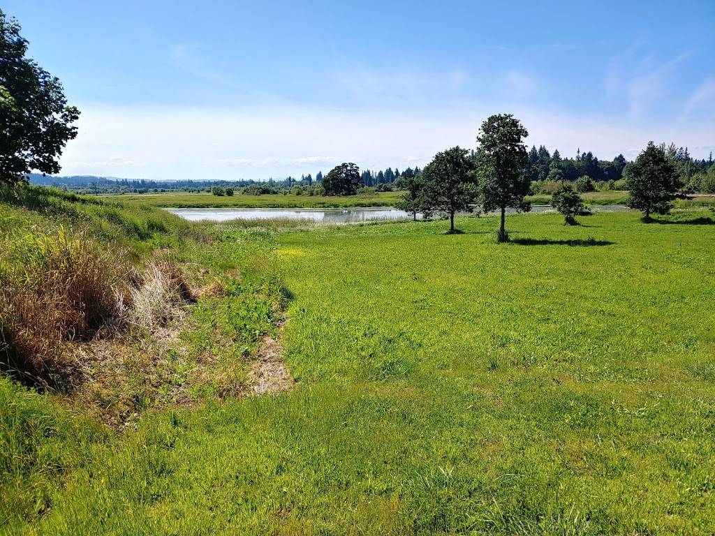
[[168, 258], [138, 272], [122, 252], [61, 227], [49, 234], [16, 235], [4, 245], [0, 364], [26, 384], [76, 386], [94, 367], [93, 359], [106, 361], [83, 352], [82, 344], [124, 332], [131, 324], [153, 332], [193, 297]]

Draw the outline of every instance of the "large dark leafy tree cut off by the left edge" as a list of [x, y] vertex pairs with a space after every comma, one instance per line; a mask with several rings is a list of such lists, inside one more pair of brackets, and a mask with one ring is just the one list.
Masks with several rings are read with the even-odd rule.
[[16, 184], [25, 174], [59, 173], [66, 142], [77, 136], [79, 118], [67, 106], [62, 85], [32, 59], [20, 25], [0, 9], [0, 182]]

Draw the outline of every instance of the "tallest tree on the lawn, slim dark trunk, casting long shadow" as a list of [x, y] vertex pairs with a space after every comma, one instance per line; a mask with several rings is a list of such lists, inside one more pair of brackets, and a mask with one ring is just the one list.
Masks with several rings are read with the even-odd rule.
[[484, 212], [501, 211], [498, 238], [506, 240], [505, 212], [531, 210], [524, 201], [531, 190], [528, 155], [523, 139], [528, 131], [511, 114], [496, 114], [483, 122], [477, 136], [479, 194]]

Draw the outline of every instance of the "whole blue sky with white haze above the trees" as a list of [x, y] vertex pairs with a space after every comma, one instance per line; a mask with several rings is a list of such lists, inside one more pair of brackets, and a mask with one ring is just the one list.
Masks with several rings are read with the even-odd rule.
[[715, 1], [5, 0], [82, 110], [64, 174], [266, 179], [528, 143], [715, 151]]

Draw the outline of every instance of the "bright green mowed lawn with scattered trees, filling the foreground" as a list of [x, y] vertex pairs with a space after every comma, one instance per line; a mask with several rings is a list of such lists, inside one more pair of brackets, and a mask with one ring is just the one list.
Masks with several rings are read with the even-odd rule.
[[709, 214], [267, 232], [296, 388], [147, 415], [33, 529], [712, 534]]

